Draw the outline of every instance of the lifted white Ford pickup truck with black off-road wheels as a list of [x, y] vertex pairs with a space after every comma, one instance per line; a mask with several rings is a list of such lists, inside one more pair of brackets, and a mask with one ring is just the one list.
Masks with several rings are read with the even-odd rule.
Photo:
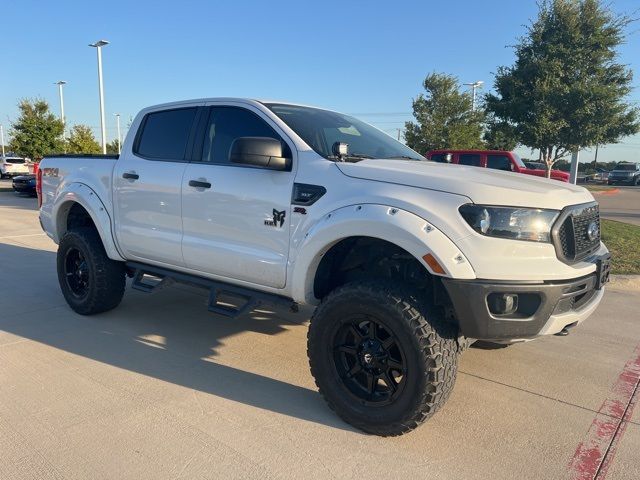
[[355, 118], [301, 105], [147, 108], [119, 157], [45, 158], [38, 189], [73, 310], [116, 307], [127, 276], [145, 291], [201, 285], [228, 316], [264, 301], [317, 305], [318, 388], [378, 435], [445, 403], [473, 339], [567, 334], [608, 280], [584, 188], [426, 161]]

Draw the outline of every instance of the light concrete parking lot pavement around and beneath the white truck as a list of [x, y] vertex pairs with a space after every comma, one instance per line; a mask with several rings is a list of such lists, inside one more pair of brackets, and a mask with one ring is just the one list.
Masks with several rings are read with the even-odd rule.
[[[317, 394], [308, 311], [230, 320], [174, 286], [81, 317], [55, 248], [35, 200], [0, 193], [1, 479], [640, 478], [637, 384], [619, 391], [640, 362], [637, 291], [609, 288], [568, 337], [469, 349], [442, 411], [385, 439]], [[593, 444], [605, 469], [577, 455]]]

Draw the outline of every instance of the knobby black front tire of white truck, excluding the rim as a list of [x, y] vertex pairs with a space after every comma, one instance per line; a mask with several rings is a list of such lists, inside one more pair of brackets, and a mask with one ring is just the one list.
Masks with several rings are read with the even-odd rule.
[[[315, 310], [307, 337], [311, 373], [329, 407], [354, 427], [381, 436], [402, 435], [433, 416], [453, 390], [459, 349], [456, 327], [436, 312], [389, 283], [354, 282], [329, 293]], [[339, 376], [332, 332], [350, 315], [379, 320], [406, 353], [403, 390], [388, 405], [364, 405]]]

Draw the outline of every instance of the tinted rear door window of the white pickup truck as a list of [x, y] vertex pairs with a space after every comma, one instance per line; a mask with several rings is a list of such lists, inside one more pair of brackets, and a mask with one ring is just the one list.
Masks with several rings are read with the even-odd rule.
[[184, 159], [195, 115], [195, 108], [148, 114], [135, 153], [163, 160]]

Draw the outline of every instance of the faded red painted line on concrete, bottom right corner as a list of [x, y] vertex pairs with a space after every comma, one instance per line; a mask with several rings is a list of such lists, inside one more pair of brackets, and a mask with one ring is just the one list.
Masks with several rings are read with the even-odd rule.
[[631, 420], [640, 386], [640, 344], [593, 419], [586, 439], [576, 449], [569, 470], [575, 480], [604, 480], [616, 448]]

